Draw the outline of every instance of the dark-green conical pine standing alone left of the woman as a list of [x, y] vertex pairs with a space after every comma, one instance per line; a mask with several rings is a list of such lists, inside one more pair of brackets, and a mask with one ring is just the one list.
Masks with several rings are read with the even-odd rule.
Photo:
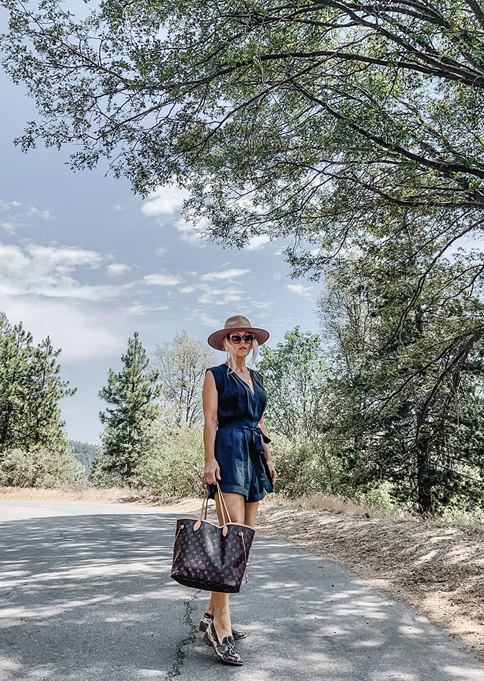
[[156, 416], [154, 401], [160, 391], [158, 374], [149, 370], [149, 359], [138, 333], [128, 339], [126, 354], [122, 354], [122, 370], [109, 370], [108, 381], [99, 392], [109, 407], [100, 412], [104, 425], [102, 434], [102, 468], [120, 472], [131, 487], [131, 476], [146, 445], [147, 423]]

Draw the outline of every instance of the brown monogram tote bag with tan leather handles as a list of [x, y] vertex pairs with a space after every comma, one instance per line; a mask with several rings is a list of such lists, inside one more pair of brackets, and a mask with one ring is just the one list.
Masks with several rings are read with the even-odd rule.
[[247, 525], [232, 523], [218, 483], [217, 489], [223, 525], [218, 527], [207, 521], [208, 490], [205, 490], [198, 520], [178, 518], [176, 521], [171, 577], [179, 584], [205, 591], [237, 593], [255, 531]]

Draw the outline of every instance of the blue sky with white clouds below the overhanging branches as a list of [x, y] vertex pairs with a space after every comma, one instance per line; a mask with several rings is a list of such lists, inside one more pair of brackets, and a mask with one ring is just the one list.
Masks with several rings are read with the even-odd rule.
[[105, 167], [70, 171], [66, 149], [22, 153], [12, 140], [37, 117], [32, 100], [3, 73], [0, 97], [0, 309], [62, 347], [78, 389], [62, 401], [69, 437], [97, 442], [97, 391], [134, 331], [149, 354], [182, 329], [205, 342], [232, 314], [268, 329], [269, 345], [295, 325], [317, 332], [320, 287], [289, 278], [283, 242], [206, 244], [175, 188], [142, 200]]

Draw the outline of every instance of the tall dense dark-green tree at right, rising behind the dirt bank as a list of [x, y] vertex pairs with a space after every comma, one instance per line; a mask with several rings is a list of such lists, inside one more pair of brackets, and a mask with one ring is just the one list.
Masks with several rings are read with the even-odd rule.
[[439, 261], [435, 247], [419, 223], [398, 244], [362, 240], [319, 303], [335, 357], [326, 432], [346, 479], [391, 481], [424, 515], [481, 503], [484, 478], [482, 258]]

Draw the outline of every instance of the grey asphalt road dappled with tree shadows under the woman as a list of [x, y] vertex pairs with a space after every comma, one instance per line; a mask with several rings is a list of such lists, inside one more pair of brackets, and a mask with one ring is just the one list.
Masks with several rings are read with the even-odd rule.
[[484, 664], [411, 608], [259, 533], [232, 596], [244, 666], [224, 665], [197, 631], [207, 594], [169, 577], [175, 519], [0, 503], [0, 680], [484, 680]]

